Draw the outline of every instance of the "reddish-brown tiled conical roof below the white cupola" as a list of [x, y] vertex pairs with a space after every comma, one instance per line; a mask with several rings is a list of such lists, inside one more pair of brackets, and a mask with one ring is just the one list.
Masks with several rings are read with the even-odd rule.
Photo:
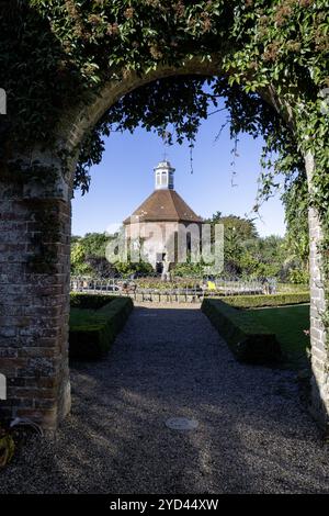
[[155, 190], [124, 224], [137, 222], [202, 222], [174, 190]]

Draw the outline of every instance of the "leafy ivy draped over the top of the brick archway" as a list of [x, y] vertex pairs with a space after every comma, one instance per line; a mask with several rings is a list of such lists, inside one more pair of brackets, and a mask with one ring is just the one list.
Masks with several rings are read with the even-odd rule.
[[[0, 120], [2, 161], [18, 168], [22, 155], [27, 173], [37, 142], [53, 147], [65, 167], [58, 126], [66, 110], [133, 72], [216, 60], [218, 76], [156, 80], [111, 106], [75, 149], [76, 187], [88, 190], [89, 167], [114, 127], [141, 124], [193, 145], [200, 121], [224, 97], [232, 138], [247, 132], [265, 141], [261, 197], [280, 172], [292, 224], [300, 206], [316, 207], [328, 277], [328, 0], [10, 0], [1, 2], [0, 25], [0, 85], [9, 105]], [[310, 188], [307, 155], [316, 164]]]

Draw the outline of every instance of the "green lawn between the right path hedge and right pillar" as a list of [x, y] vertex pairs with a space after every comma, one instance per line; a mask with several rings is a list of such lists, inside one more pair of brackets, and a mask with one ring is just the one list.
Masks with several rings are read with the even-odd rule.
[[250, 312], [257, 321], [275, 332], [290, 367], [300, 369], [307, 366], [309, 336], [304, 334], [304, 329], [309, 329], [309, 305], [253, 309]]

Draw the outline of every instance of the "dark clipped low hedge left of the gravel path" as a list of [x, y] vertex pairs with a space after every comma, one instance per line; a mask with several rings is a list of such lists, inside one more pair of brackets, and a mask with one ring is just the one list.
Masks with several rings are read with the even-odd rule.
[[71, 359], [101, 358], [109, 351], [116, 335], [125, 325], [134, 307], [131, 298], [115, 298], [110, 303], [109, 296], [106, 298], [107, 303], [97, 311], [72, 309], [69, 332]]

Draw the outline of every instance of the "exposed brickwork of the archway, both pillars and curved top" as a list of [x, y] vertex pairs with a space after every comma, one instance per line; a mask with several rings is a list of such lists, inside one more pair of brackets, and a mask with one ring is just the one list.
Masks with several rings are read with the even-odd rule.
[[[72, 150], [86, 132], [122, 96], [155, 79], [178, 74], [218, 75], [218, 64], [189, 61], [180, 69], [162, 68], [146, 77], [134, 74], [109, 82], [89, 104], [63, 113], [57, 128], [58, 146]], [[273, 89], [260, 92], [275, 109], [280, 99]], [[287, 108], [287, 106], [285, 106]], [[286, 116], [290, 110], [286, 109]], [[293, 125], [293, 120], [286, 120]], [[1, 404], [8, 417], [24, 415], [49, 430], [56, 429], [70, 410], [68, 368], [68, 317], [70, 268], [70, 200], [72, 171], [63, 171], [49, 149], [34, 158], [54, 167], [43, 180], [24, 181], [4, 167], [0, 184], [0, 339], [1, 372], [8, 379], [8, 401]], [[31, 162], [31, 158], [29, 158]], [[315, 170], [311, 156], [305, 156], [309, 188]], [[318, 255], [320, 225], [309, 211], [310, 236], [310, 335], [313, 350], [311, 410], [328, 420], [328, 358], [321, 323], [325, 288]]]

